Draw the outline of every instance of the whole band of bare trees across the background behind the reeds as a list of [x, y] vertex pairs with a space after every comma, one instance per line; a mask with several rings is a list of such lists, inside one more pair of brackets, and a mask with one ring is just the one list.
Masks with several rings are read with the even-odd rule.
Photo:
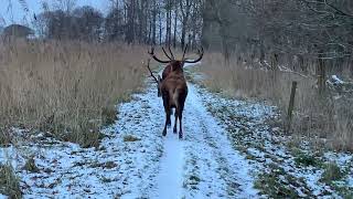
[[105, 14], [75, 0], [52, 4], [34, 17], [46, 39], [202, 44], [226, 59], [286, 62], [303, 72], [318, 60], [352, 65], [352, 0], [111, 0]]

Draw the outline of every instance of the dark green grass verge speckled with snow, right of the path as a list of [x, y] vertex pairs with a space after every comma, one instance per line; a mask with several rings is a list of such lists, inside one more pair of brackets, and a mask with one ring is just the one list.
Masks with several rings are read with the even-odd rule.
[[[301, 142], [302, 145], [298, 146], [300, 153], [296, 154], [289, 146], [292, 138], [279, 134], [281, 132], [280, 127], [267, 124], [268, 121], [271, 121], [271, 123], [278, 121], [276, 107], [265, 103], [223, 98], [222, 93], [215, 96], [206, 94], [207, 92], [202, 88], [199, 90], [205, 93], [203, 95], [205, 104], [213, 115], [221, 121], [220, 123], [225, 125], [234, 146], [246, 155], [254, 167], [258, 168], [257, 181], [271, 184], [267, 181], [269, 176], [261, 179], [261, 175], [269, 172], [278, 181], [278, 185], [270, 185], [274, 189], [278, 189], [277, 192], [264, 192], [263, 190], [263, 193], [270, 197], [285, 193], [287, 197], [340, 198], [342, 192], [339, 189], [322, 182], [324, 167], [330, 163], [336, 163], [341, 170], [347, 170], [344, 179], [335, 182], [341, 182], [345, 188], [353, 190], [350, 182], [353, 170], [347, 169], [352, 168], [352, 154], [323, 153], [323, 156], [321, 156], [312, 150], [304, 140]], [[297, 161], [301, 158], [299, 156], [302, 156], [302, 161], [309, 164], [312, 161], [314, 165], [298, 165]], [[295, 192], [291, 192], [292, 190]]]

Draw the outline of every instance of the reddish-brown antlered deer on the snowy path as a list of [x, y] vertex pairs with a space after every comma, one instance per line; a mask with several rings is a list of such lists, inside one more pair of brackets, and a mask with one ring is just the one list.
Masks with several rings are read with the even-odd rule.
[[[172, 52], [171, 56], [168, 56], [165, 51], [165, 55], [169, 57], [168, 61], [163, 61], [158, 59], [154, 55], [153, 48], [149, 52], [149, 54], [156, 60], [157, 62], [160, 63], [168, 63], [167, 67], [164, 69], [165, 71], [165, 76], [158, 78], [153, 75], [152, 71], [150, 70], [148, 65], [148, 70], [150, 71], [151, 76], [154, 78], [154, 81], [158, 84], [158, 90], [162, 96], [163, 100], [163, 106], [164, 106], [164, 112], [165, 112], [165, 124], [164, 128], [162, 132], [162, 135], [167, 135], [167, 126], [171, 125], [171, 113], [172, 108], [175, 108], [174, 116], [175, 116], [175, 123], [174, 123], [174, 128], [173, 133], [176, 134], [176, 124], [179, 119], [179, 138], [181, 139], [183, 137], [183, 130], [182, 130], [182, 114], [184, 109], [184, 103], [188, 96], [188, 85], [186, 85], [186, 80], [184, 77], [184, 71], [183, 66], [184, 63], [196, 63], [202, 60], [203, 57], [203, 49], [199, 50], [199, 57], [196, 60], [188, 60], [185, 59], [185, 52], [188, 50], [188, 45], [184, 49], [184, 53], [181, 60], [175, 60]], [[168, 72], [169, 70], [169, 72]]]

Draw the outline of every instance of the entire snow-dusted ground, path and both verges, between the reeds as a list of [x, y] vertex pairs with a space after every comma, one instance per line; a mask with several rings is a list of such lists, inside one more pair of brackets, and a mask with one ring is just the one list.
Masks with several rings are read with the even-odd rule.
[[[298, 151], [288, 147], [290, 136], [277, 134], [280, 127], [267, 124], [278, 119], [276, 107], [188, 85], [182, 140], [171, 129], [162, 137], [165, 115], [151, 82], [131, 102], [119, 105], [118, 121], [103, 130], [106, 137], [98, 148], [17, 129], [26, 138], [0, 148], [0, 161], [15, 168], [24, 198], [258, 198], [278, 193], [263, 192], [261, 186], [296, 197], [340, 198], [335, 187], [320, 181], [331, 161], [347, 174], [339, 182], [353, 187], [352, 155], [311, 156], [310, 147]], [[23, 169], [31, 156], [39, 172]], [[274, 179], [275, 185], [261, 177]]]

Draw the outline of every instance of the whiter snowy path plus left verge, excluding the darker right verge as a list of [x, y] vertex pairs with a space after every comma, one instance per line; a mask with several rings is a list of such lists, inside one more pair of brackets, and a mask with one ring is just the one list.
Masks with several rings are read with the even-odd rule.
[[[24, 198], [220, 198], [252, 197], [250, 166], [192, 84], [184, 111], [185, 138], [161, 132], [164, 113], [154, 85], [119, 106], [118, 122], [104, 129], [99, 148], [81, 148], [45, 134], [1, 148], [21, 179]], [[172, 119], [174, 121], [174, 119]], [[23, 169], [34, 156], [39, 172]]]

